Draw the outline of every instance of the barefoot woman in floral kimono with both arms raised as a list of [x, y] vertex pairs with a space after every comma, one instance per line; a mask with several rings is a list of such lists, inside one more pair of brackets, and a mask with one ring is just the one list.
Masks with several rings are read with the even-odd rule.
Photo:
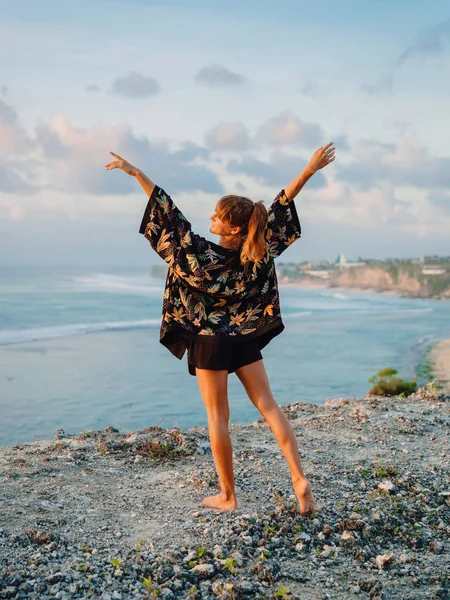
[[284, 329], [274, 259], [301, 236], [293, 200], [316, 171], [334, 160], [333, 142], [313, 154], [269, 210], [262, 201], [235, 195], [221, 198], [210, 217], [210, 232], [220, 236], [218, 244], [193, 233], [163, 189], [110, 154], [116, 160], [105, 168], [136, 177], [149, 197], [139, 232], [169, 265], [160, 342], [179, 359], [187, 350], [188, 370], [197, 377], [208, 415], [221, 489], [203, 504], [225, 510], [238, 506], [227, 395], [228, 374], [235, 372], [286, 458], [301, 514], [316, 510], [295, 434], [272, 395], [261, 349]]

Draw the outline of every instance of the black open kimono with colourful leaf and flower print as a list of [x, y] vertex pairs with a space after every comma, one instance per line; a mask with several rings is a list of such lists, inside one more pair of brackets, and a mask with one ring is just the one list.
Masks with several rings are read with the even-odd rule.
[[274, 259], [301, 236], [301, 228], [295, 204], [284, 190], [268, 213], [266, 255], [244, 268], [240, 249], [224, 248], [194, 233], [170, 196], [155, 186], [139, 233], [169, 265], [160, 342], [177, 358], [183, 357], [189, 339], [257, 339], [263, 348], [283, 331]]

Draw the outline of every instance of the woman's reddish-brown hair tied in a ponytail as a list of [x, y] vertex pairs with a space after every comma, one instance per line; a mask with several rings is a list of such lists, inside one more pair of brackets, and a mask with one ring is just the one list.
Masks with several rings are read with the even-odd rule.
[[243, 265], [258, 263], [266, 254], [266, 229], [268, 221], [264, 200], [253, 202], [245, 196], [223, 196], [217, 203], [216, 213], [219, 219], [231, 225], [239, 226], [238, 246], [241, 246], [240, 259]]

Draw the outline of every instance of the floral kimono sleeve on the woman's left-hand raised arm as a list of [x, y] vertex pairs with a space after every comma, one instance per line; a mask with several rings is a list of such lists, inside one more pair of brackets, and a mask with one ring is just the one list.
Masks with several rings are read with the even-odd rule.
[[139, 233], [166, 263], [172, 265], [181, 255], [195, 252], [196, 234], [172, 198], [155, 185], [142, 217]]

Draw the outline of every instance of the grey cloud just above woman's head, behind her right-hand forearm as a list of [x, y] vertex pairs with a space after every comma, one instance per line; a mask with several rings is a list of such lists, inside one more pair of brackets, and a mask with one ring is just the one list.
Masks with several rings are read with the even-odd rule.
[[[264, 185], [282, 188], [304, 169], [306, 163], [307, 161], [298, 156], [274, 152], [269, 162], [246, 156], [241, 160], [230, 160], [227, 168], [229, 173], [247, 175]], [[326, 185], [327, 181], [320, 171], [308, 181], [308, 186], [313, 188]]]

